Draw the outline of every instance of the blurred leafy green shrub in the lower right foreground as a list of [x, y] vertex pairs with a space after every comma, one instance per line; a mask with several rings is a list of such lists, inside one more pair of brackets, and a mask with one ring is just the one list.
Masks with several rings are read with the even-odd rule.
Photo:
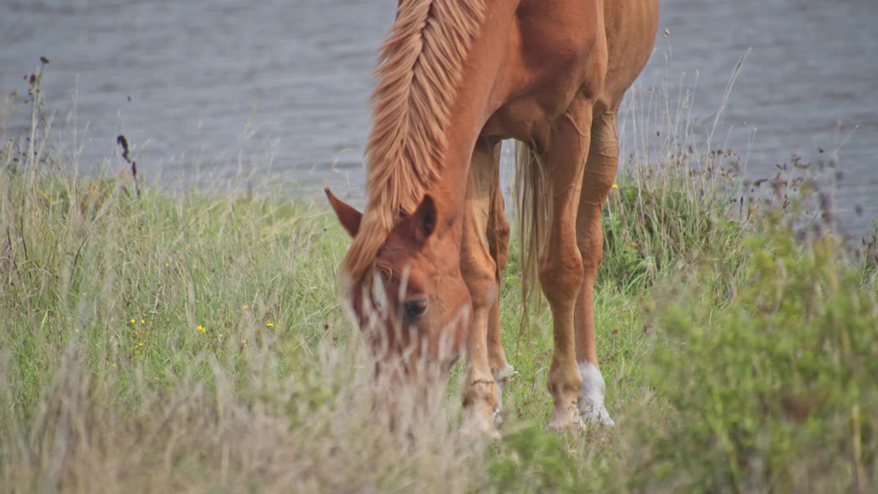
[[[748, 240], [741, 283], [705, 262], [659, 299], [648, 380], [673, 412], [628, 438], [642, 491], [864, 490], [878, 472], [875, 285], [832, 236]], [[737, 285], [737, 286], [736, 286]]]

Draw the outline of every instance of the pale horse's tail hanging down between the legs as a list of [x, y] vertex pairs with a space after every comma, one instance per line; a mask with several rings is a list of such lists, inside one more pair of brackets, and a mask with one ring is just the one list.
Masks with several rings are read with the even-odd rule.
[[[515, 202], [518, 205], [518, 235], [522, 249], [522, 329], [529, 320], [530, 292], [537, 280], [539, 253], [543, 250], [551, 224], [551, 185], [546, 172], [529, 145], [515, 142]], [[537, 296], [537, 308], [539, 301]]]

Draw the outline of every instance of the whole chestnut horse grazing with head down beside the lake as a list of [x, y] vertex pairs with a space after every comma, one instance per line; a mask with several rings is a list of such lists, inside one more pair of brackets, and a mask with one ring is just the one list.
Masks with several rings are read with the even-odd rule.
[[464, 427], [493, 430], [512, 370], [498, 297], [504, 139], [522, 144], [527, 244], [552, 314], [549, 426], [613, 423], [594, 347], [601, 207], [616, 114], [658, 19], [658, 0], [399, 2], [372, 94], [363, 214], [327, 197], [353, 237], [343, 296], [372, 345], [443, 369], [465, 349]]

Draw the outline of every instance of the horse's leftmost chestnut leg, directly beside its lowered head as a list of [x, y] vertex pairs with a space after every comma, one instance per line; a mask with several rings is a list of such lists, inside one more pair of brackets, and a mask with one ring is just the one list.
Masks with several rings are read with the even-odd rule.
[[492, 415], [499, 396], [488, 357], [490, 312], [498, 295], [497, 264], [487, 245], [493, 182], [497, 176], [499, 144], [481, 140], [472, 155], [464, 201], [460, 271], [472, 299], [470, 335], [466, 343], [463, 386], [465, 432], [493, 432]]

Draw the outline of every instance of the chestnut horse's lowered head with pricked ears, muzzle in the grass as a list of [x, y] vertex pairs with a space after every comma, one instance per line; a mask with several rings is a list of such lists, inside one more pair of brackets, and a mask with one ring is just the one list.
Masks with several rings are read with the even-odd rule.
[[[371, 235], [360, 228], [363, 214], [326, 192], [350, 236]], [[344, 296], [378, 359], [402, 360], [407, 372], [416, 362], [447, 369], [467, 338], [471, 301], [459, 245], [442, 238], [438, 221], [435, 201], [425, 195], [399, 219], [368, 269], [342, 272]]]

